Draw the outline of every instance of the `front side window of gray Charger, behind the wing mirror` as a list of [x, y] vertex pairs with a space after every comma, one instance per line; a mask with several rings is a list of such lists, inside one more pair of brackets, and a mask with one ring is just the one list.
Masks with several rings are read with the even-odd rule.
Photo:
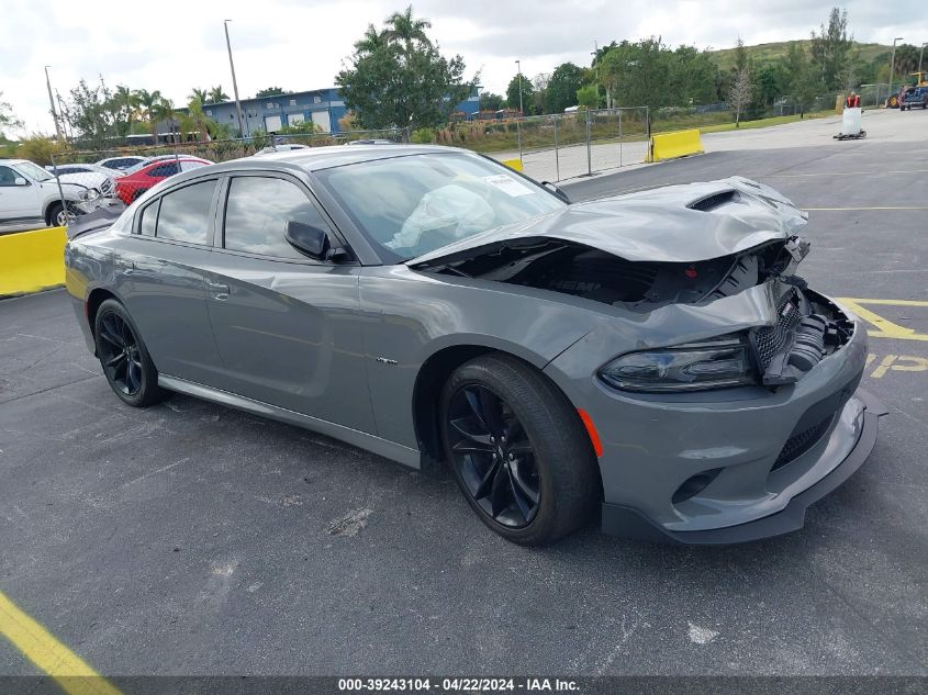
[[225, 204], [225, 248], [278, 258], [306, 259], [284, 238], [288, 222], [328, 229], [325, 220], [295, 183], [283, 179], [232, 179]]

